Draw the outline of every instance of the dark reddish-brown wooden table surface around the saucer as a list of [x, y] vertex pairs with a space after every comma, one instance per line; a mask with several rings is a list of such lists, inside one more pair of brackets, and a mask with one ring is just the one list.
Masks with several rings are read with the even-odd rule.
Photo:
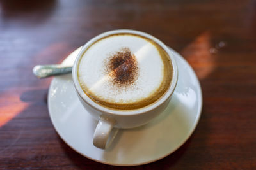
[[[202, 85], [202, 117], [188, 141], [136, 169], [256, 168], [256, 1], [0, 1], [0, 169], [115, 169], [58, 136], [47, 110], [60, 63], [101, 32], [136, 29], [181, 53]], [[120, 167], [117, 167], [120, 168]]]

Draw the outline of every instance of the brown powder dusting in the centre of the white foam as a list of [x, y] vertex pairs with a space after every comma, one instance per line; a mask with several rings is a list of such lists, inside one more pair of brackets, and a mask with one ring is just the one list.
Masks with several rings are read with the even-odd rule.
[[138, 61], [129, 48], [121, 48], [106, 61], [107, 74], [118, 87], [128, 87], [138, 79]]

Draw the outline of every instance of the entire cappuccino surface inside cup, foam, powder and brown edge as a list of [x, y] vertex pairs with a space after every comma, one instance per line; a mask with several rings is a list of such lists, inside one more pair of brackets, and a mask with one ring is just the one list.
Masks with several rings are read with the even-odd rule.
[[168, 54], [151, 39], [114, 34], [86, 49], [79, 83], [90, 99], [107, 108], [134, 110], [156, 102], [172, 80]]

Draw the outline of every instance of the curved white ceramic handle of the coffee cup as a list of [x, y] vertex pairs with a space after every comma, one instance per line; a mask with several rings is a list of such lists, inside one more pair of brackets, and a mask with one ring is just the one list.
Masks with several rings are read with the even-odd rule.
[[[95, 129], [93, 135], [93, 145], [97, 148], [106, 149], [111, 144], [113, 139], [116, 136], [118, 129], [113, 129], [113, 125], [115, 125], [115, 120], [112, 118], [101, 116], [98, 122], [98, 125]], [[111, 135], [111, 131], [113, 129], [113, 133]]]

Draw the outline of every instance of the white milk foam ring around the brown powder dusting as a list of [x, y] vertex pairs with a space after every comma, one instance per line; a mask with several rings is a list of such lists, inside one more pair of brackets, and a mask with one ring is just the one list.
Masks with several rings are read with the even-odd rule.
[[[138, 60], [138, 79], [129, 87], [111, 83], [104, 67], [111, 54], [129, 48]], [[94, 43], [79, 62], [79, 81], [83, 89], [97, 98], [111, 103], [133, 103], [156, 92], [163, 81], [163, 60], [147, 39], [129, 34], [108, 36]], [[85, 88], [84, 88], [85, 87]]]

